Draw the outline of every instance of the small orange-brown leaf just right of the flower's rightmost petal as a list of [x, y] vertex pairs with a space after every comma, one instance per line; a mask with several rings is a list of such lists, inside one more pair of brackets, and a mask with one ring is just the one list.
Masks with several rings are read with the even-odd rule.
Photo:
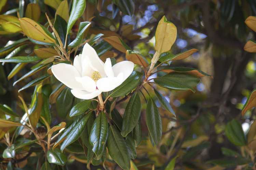
[[125, 57], [128, 61], [131, 61], [134, 64], [138, 64], [138, 65], [143, 66], [143, 67], [148, 66], [147, 60], [142, 55], [140, 55], [136, 52], [133, 52], [131, 50], [126, 51], [126, 56]]

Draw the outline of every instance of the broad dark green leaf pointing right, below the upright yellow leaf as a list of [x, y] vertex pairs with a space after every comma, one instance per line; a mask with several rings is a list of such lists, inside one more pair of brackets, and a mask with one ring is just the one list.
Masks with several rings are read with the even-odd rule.
[[169, 73], [162, 77], [154, 79], [159, 86], [176, 89], [176, 90], [191, 90], [195, 92], [195, 86], [200, 82], [200, 79], [185, 73]]

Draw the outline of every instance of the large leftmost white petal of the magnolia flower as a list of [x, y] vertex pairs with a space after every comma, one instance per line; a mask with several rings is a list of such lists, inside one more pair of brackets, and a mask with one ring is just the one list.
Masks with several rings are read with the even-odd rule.
[[53, 75], [61, 83], [65, 84], [71, 89], [84, 89], [82, 84], [75, 80], [75, 77], [80, 77], [76, 68], [70, 64], [60, 63], [53, 65], [51, 68]]

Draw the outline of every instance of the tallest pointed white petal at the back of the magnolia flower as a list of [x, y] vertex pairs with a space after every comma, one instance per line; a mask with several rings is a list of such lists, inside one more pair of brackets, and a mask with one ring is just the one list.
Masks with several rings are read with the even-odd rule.
[[93, 70], [100, 72], [101, 76], [105, 77], [104, 63], [100, 60], [94, 48], [88, 43], [84, 45], [82, 55], [83, 57], [88, 57], [90, 66]]

